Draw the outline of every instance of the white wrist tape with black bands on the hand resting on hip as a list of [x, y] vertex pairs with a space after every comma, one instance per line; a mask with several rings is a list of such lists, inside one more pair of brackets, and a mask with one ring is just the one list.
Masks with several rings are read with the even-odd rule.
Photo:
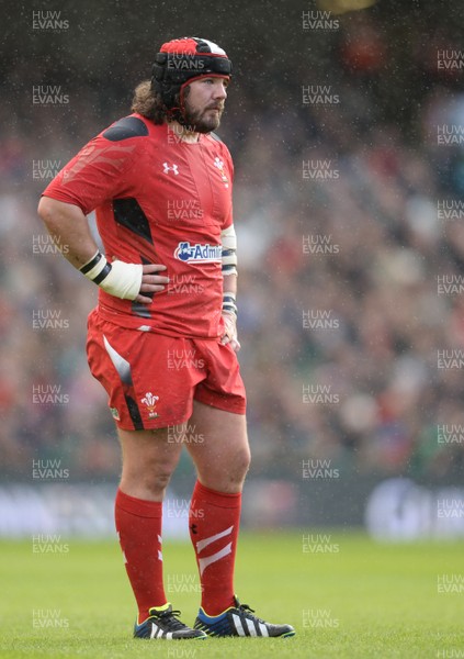
[[142, 264], [115, 260], [109, 264], [100, 252], [84, 264], [80, 271], [106, 293], [122, 300], [135, 300], [140, 291]]

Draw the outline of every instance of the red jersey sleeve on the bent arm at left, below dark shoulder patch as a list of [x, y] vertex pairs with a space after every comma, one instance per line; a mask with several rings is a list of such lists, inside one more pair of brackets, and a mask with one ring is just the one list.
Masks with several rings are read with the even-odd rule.
[[77, 205], [88, 215], [104, 201], [124, 194], [124, 175], [140, 146], [137, 138], [113, 142], [104, 134], [94, 137], [61, 169], [43, 196]]

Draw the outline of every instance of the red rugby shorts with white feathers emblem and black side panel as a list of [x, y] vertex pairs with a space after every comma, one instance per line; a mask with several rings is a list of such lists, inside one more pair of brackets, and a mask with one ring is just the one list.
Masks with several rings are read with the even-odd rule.
[[120, 428], [142, 431], [186, 422], [193, 399], [245, 414], [245, 387], [237, 356], [218, 339], [185, 338], [114, 325], [94, 309], [88, 322], [87, 356], [105, 388]]

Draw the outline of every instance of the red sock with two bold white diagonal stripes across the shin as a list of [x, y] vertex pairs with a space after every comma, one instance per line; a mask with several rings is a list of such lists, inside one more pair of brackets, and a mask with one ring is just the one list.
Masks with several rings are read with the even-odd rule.
[[218, 615], [234, 606], [234, 566], [241, 494], [225, 494], [196, 481], [189, 515], [202, 584], [202, 607]]

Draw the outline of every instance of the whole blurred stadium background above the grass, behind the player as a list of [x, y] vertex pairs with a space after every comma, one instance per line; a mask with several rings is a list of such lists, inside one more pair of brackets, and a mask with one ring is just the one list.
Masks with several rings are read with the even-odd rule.
[[[438, 368], [438, 350], [457, 361], [464, 350], [463, 294], [438, 291], [464, 263], [463, 145], [437, 137], [464, 125], [463, 68], [450, 66], [463, 59], [460, 2], [381, 0], [324, 18], [314, 2], [65, 1], [63, 30], [33, 27], [33, 11], [56, 7], [3, 5], [1, 534], [41, 529], [43, 498], [66, 499], [61, 523], [73, 510], [65, 528], [84, 530], [94, 509], [80, 506], [79, 525], [77, 501], [92, 485], [114, 490], [113, 422], [84, 358], [95, 289], [47, 253], [36, 204], [56, 161], [128, 113], [157, 46], [195, 34], [234, 62], [219, 135], [236, 166], [253, 455], [245, 523], [362, 525], [384, 483], [378, 533], [462, 536], [462, 516], [444, 524], [435, 506], [440, 492], [457, 512], [464, 499], [464, 380], [459, 366]], [[37, 86], [57, 86], [58, 100], [34, 102]], [[330, 100], [305, 102], [307, 86]], [[34, 403], [36, 388], [55, 402]], [[192, 480], [185, 458], [176, 494], [188, 498]], [[18, 510], [35, 522], [21, 526]]]

